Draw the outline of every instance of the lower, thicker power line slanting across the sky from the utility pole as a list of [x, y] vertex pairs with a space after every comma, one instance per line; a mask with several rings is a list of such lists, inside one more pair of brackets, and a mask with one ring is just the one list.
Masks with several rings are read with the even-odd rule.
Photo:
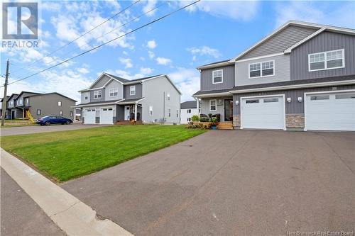
[[111, 39], [111, 40], [107, 41], [106, 43], [102, 43], [101, 45], [98, 45], [98, 46], [96, 46], [96, 47], [92, 47], [92, 49], [89, 49], [89, 50], [87, 50], [87, 51], [85, 51], [85, 52], [82, 52], [82, 53], [80, 53], [80, 54], [78, 54], [78, 55], [75, 55], [74, 57], [70, 57], [69, 59], [64, 60], [64, 61], [62, 61], [62, 62], [60, 62], [60, 63], [58, 63], [58, 64], [55, 64], [55, 65], [53, 65], [53, 66], [51, 66], [51, 67], [48, 67], [48, 68], [46, 68], [46, 69], [42, 69], [42, 70], [40, 70], [39, 72], [36, 72], [36, 73], [34, 73], [34, 74], [31, 74], [31, 75], [29, 75], [28, 77], [24, 77], [24, 78], [22, 78], [22, 79], [18, 79], [18, 80], [14, 81], [14, 82], [11, 82], [11, 83], [9, 83], [9, 84], [14, 84], [14, 83], [20, 82], [20, 81], [22, 81], [22, 80], [24, 80], [24, 79], [28, 79], [28, 78], [30, 78], [30, 77], [35, 76], [36, 74], [40, 74], [40, 73], [42, 73], [42, 72], [47, 71], [48, 69], [52, 69], [52, 68], [54, 68], [54, 67], [58, 67], [60, 64], [64, 64], [65, 62], [68, 62], [68, 61], [73, 60], [73, 59], [75, 59], [75, 58], [77, 58], [77, 57], [80, 57], [80, 56], [82, 56], [82, 55], [85, 55], [85, 54], [87, 54], [88, 52], [92, 52], [93, 50], [97, 50], [99, 47], [102, 47], [102, 46], [104, 46], [104, 45], [107, 45], [108, 43], [111, 43], [111, 42], [113, 42], [114, 40], [118, 40], [119, 38], [122, 38], [122, 37], [124, 37], [124, 36], [126, 36], [126, 35], [129, 35], [129, 34], [131, 34], [131, 33], [133, 33], [133, 32], [136, 32], [137, 30], [140, 30], [141, 28], [144, 28], [144, 27], [146, 27], [146, 26], [150, 26], [151, 24], [153, 24], [153, 23], [155, 23], [155, 22], [161, 21], [161, 20], [163, 20], [163, 18], [167, 18], [168, 16], [171, 16], [171, 15], [173, 15], [174, 13], [176, 13], [176, 12], [178, 12], [178, 11], [181, 11], [182, 9], [186, 9], [186, 8], [189, 7], [189, 6], [192, 6], [192, 5], [194, 5], [194, 4], [197, 4], [197, 2], [199, 2], [199, 1], [200, 1], [200, 0], [197, 0], [197, 1], [192, 2], [191, 4], [187, 4], [187, 5], [185, 5], [185, 6], [182, 6], [180, 9], [177, 9], [177, 10], [175, 10], [175, 11], [172, 11], [172, 12], [168, 13], [168, 14], [165, 14], [164, 16], [160, 16], [160, 18], [157, 18], [157, 19], [155, 19], [154, 21], [148, 22], [148, 23], [144, 24], [143, 26], [139, 26], [138, 28], [135, 28], [135, 29], [133, 29], [133, 30], [127, 32], [127, 33], [124, 33], [123, 35], [119, 35], [118, 37], [116, 37], [116, 38], [114, 38], [114, 39]]

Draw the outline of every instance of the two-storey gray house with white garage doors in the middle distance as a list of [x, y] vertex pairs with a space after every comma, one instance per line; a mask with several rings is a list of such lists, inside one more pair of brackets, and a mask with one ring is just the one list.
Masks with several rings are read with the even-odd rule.
[[102, 73], [79, 91], [84, 124], [180, 123], [180, 91], [168, 75], [124, 79]]

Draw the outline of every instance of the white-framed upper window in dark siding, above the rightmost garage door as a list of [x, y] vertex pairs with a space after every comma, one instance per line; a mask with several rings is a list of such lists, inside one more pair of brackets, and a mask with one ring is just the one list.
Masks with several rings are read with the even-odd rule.
[[317, 52], [308, 55], [308, 71], [337, 69], [345, 67], [344, 49], [328, 52]]

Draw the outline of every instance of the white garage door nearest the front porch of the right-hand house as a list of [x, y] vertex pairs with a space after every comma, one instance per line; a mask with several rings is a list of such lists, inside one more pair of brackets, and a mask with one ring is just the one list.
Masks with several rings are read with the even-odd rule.
[[241, 99], [241, 128], [285, 129], [283, 96]]

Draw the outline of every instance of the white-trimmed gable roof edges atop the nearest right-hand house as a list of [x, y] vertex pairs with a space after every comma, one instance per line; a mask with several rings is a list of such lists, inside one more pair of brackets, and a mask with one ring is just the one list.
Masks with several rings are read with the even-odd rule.
[[[305, 22], [305, 21], [288, 21], [285, 24], [283, 24], [282, 26], [280, 26], [278, 29], [274, 30], [273, 33], [267, 35], [265, 38], [263, 38], [260, 41], [258, 41], [258, 43], [254, 44], [253, 46], [251, 46], [248, 49], [244, 50], [244, 52], [241, 52], [241, 54], [239, 54], [236, 57], [232, 58], [230, 60], [230, 62], [235, 62], [236, 60], [239, 60], [241, 57], [246, 55], [248, 52], [251, 52], [251, 50], [253, 50], [256, 47], [258, 47], [259, 45], [265, 43], [268, 39], [272, 38], [277, 33], [280, 33], [280, 31], [284, 30], [288, 26], [301, 26], [301, 27], [305, 27], [305, 28], [314, 28], [314, 29], [316, 29], [315, 33], [312, 33], [311, 35], [308, 35], [306, 38], [303, 38], [302, 40], [300, 40], [297, 43], [295, 43], [296, 46], [292, 45], [291, 47], [293, 47], [293, 46], [297, 47], [297, 45], [300, 45], [299, 43], [301, 41], [303, 41], [302, 43], [305, 43], [305, 41], [310, 40], [310, 38], [315, 37], [315, 35], [318, 35], [319, 33], [322, 33], [322, 31], [321, 31], [322, 28], [324, 28], [324, 30], [330, 30], [330, 31], [337, 32], [337, 33], [355, 34], [355, 30], [354, 29], [350, 29], [350, 28], [342, 28], [342, 27], [337, 27], [337, 26], [327, 26], [327, 25], [322, 25], [322, 24], [318, 24], [318, 23], [309, 23], [309, 22]], [[290, 50], [292, 50], [291, 47], [286, 49], [285, 53], [290, 52]]]

